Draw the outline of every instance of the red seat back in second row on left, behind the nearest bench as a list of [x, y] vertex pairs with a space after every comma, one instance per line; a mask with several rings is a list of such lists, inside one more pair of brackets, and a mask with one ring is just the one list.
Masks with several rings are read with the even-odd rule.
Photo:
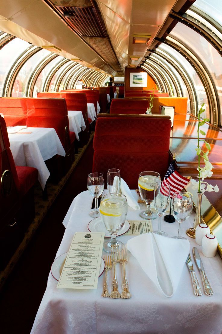
[[38, 98], [60, 98], [60, 99], [63, 98], [65, 99], [67, 110], [82, 111], [86, 126], [88, 125], [86, 94], [39, 92], [37, 93], [37, 97]]

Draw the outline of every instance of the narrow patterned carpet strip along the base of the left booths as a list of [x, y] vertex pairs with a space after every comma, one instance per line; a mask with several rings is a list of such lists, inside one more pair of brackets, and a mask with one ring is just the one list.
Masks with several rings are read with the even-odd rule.
[[9, 261], [8, 265], [6, 266], [6, 268], [3, 271], [0, 272], [0, 287], [3, 285], [3, 283], [7, 279], [8, 275], [10, 274], [12, 269], [14, 268], [15, 264], [17, 263], [18, 259], [20, 258], [21, 254], [23, 253], [27, 244], [31, 240], [32, 236], [34, 235], [36, 229], [38, 228], [38, 226], [42, 222], [43, 217], [45, 216], [45, 214], [49, 210], [50, 206], [54, 202], [55, 198], [59, 194], [60, 190], [62, 189], [62, 187], [64, 186], [66, 181], [68, 180], [70, 174], [75, 169], [77, 163], [79, 162], [83, 153], [85, 152], [86, 148], [88, 147], [89, 143], [93, 139], [93, 136], [94, 136], [94, 132], [91, 132], [89, 142], [83, 148], [79, 148], [78, 154], [75, 154], [74, 163], [72, 164], [69, 172], [61, 179], [61, 181], [57, 185], [48, 183], [48, 186], [47, 186], [48, 199], [47, 200], [43, 200], [43, 198], [42, 198], [42, 188], [41, 188], [40, 184], [35, 186], [35, 215], [36, 215], [35, 219], [30, 224], [27, 232], [25, 233], [23, 241], [21, 242], [21, 244], [17, 248], [16, 252], [14, 253], [11, 260]]

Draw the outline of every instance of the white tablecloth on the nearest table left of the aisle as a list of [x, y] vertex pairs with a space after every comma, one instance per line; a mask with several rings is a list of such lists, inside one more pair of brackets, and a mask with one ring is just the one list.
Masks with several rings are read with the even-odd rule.
[[[24, 132], [31, 133], [22, 134]], [[56, 154], [63, 157], [66, 155], [56, 130], [52, 128], [26, 128], [8, 136], [16, 166], [37, 168], [38, 180], [44, 189], [50, 175], [45, 160]]]

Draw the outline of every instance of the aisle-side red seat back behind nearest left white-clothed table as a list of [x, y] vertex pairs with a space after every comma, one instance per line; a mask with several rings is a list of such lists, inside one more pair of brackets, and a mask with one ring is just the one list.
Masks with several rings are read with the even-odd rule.
[[28, 127], [54, 128], [64, 148], [70, 144], [69, 119], [65, 99], [27, 99]]

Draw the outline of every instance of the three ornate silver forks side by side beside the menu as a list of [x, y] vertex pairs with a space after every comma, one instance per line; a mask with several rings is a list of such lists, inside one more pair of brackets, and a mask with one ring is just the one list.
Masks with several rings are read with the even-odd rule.
[[[126, 270], [125, 264], [128, 262], [127, 258], [127, 250], [126, 244], [123, 244], [119, 247], [119, 245], [112, 246], [111, 256], [104, 256], [105, 261], [105, 282], [103, 287], [102, 297], [110, 297], [110, 298], [124, 298], [129, 299], [131, 298], [131, 294], [129, 292], [129, 285], [126, 279]], [[123, 280], [122, 280], [122, 293], [120, 294], [118, 291], [118, 282], [116, 278], [116, 264], [121, 263], [123, 267]], [[107, 272], [112, 268], [113, 265], [113, 279], [112, 279], [112, 291], [109, 294], [108, 291], [108, 284], [107, 284]]]

